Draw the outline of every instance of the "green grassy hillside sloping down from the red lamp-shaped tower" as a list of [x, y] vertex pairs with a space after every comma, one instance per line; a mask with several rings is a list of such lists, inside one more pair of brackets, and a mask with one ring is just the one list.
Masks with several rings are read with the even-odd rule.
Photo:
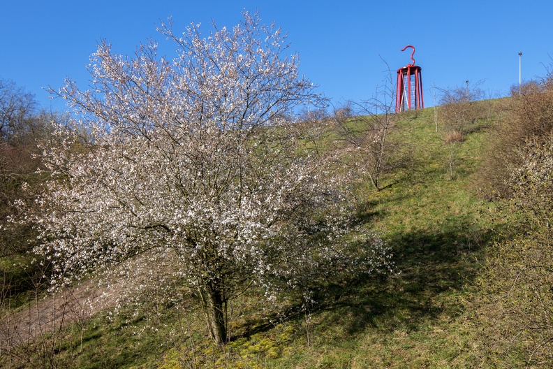
[[329, 284], [309, 312], [244, 294], [230, 306], [233, 341], [225, 348], [212, 345], [193, 303], [101, 312], [20, 348], [22, 367], [480, 367], [475, 278], [503, 227], [490, 216], [494, 205], [473, 191], [490, 122], [473, 121], [453, 147], [436, 130], [433, 108], [403, 113], [397, 124], [413, 164], [385, 175], [381, 191], [360, 189], [365, 229], [394, 252], [392, 275]]

